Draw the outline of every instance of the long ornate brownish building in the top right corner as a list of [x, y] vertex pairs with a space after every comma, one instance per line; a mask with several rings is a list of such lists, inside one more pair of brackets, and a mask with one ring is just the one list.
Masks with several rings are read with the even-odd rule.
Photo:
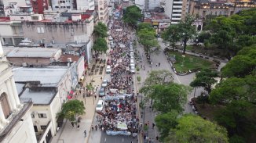
[[210, 0], [191, 0], [189, 13], [199, 18], [212, 16], [231, 16], [243, 9], [255, 8], [256, 3], [253, 0], [240, 1], [210, 1]]

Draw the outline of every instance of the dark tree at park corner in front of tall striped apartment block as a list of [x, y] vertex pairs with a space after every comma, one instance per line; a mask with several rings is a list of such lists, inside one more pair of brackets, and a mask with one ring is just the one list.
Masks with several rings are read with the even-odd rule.
[[175, 47], [176, 43], [181, 40], [179, 27], [177, 25], [170, 25], [162, 34], [164, 41], [168, 41], [170, 45]]

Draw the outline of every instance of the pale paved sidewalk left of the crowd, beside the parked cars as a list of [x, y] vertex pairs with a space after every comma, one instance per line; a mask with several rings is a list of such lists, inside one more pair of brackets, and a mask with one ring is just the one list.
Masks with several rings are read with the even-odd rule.
[[[87, 72], [88, 73], [88, 72]], [[101, 87], [101, 77], [104, 77], [104, 72], [102, 74], [93, 74], [91, 76], [86, 75], [86, 81], [83, 85], [83, 87], [86, 87], [86, 84], [89, 84], [91, 80], [94, 80], [92, 83], [94, 85], [98, 85], [98, 87]], [[98, 88], [98, 89], [99, 89]], [[71, 123], [68, 120], [64, 120], [63, 127], [58, 130], [57, 134], [53, 136], [52, 142], [53, 143], [87, 143], [90, 138], [90, 129], [91, 125], [93, 123], [93, 117], [95, 114], [95, 108], [97, 105], [98, 96], [93, 101], [93, 96], [85, 97], [83, 98], [83, 90], [81, 95], [78, 94], [77, 99], [81, 100], [85, 103], [85, 114], [82, 115], [82, 120], [79, 123], [80, 127], [79, 129], [77, 127], [72, 127]], [[87, 132], [86, 138], [84, 137], [84, 130]], [[99, 141], [95, 141], [94, 139], [99, 139]], [[101, 138], [94, 138], [94, 142], [100, 142]]]

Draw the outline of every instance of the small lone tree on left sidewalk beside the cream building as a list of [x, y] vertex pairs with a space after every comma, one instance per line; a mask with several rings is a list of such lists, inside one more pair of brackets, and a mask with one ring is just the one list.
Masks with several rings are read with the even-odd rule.
[[76, 121], [76, 117], [85, 113], [85, 106], [82, 101], [70, 100], [62, 106], [62, 110], [58, 113], [58, 117], [64, 117], [71, 122]]

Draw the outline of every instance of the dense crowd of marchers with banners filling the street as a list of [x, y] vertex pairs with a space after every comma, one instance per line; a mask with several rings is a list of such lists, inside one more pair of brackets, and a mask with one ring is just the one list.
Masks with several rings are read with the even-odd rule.
[[122, 131], [122, 134], [137, 136], [140, 127], [136, 108], [137, 96], [134, 95], [133, 77], [129, 72], [130, 55], [127, 54], [132, 39], [130, 31], [126, 27], [120, 29], [122, 22], [114, 20], [112, 23], [110, 34], [115, 41], [115, 48], [110, 52], [108, 59], [112, 73], [107, 89], [108, 91], [116, 89], [117, 92], [108, 96], [119, 96], [122, 94], [120, 91], [125, 91], [125, 93], [123, 93], [123, 98], [105, 100], [104, 109], [97, 115], [97, 127], [107, 131], [107, 134]]

